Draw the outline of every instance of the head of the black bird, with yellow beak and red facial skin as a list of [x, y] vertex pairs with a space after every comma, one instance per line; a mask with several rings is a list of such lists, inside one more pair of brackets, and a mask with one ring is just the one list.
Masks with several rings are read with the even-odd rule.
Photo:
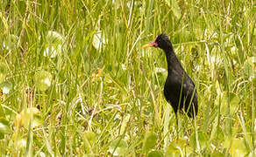
[[142, 47], [159, 47], [160, 49], [166, 49], [169, 46], [172, 46], [170, 39], [167, 37], [166, 34], [160, 34], [158, 35], [153, 42], [149, 44], [145, 44]]

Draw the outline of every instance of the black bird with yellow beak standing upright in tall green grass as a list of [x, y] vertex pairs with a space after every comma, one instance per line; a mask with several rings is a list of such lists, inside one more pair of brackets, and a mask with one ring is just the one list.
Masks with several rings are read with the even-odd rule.
[[152, 43], [145, 44], [143, 47], [151, 46], [159, 47], [166, 53], [168, 76], [164, 95], [167, 102], [174, 108], [175, 115], [178, 110], [181, 110], [187, 113], [189, 118], [196, 117], [198, 106], [195, 84], [181, 66], [169, 38], [165, 34], [160, 34]]

